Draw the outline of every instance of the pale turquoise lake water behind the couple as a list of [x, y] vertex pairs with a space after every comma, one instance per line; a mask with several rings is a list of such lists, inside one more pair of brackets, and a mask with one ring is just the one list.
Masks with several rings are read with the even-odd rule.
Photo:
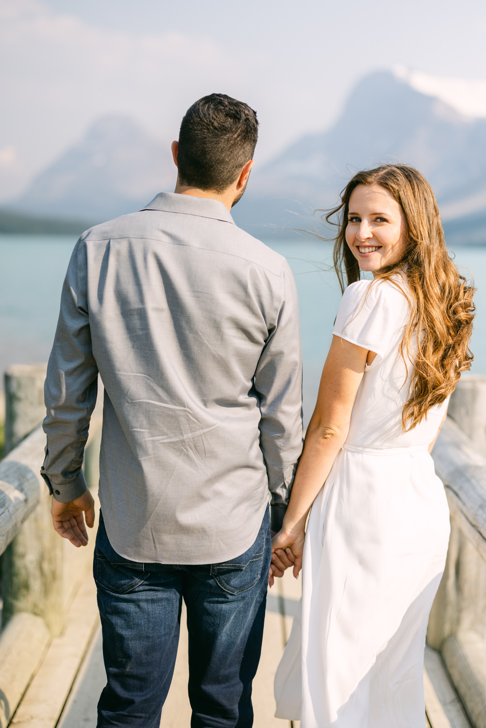
[[[64, 236], [0, 235], [0, 372], [9, 364], [47, 361], [60, 288], [75, 242], [74, 237]], [[307, 422], [341, 298], [330, 269], [332, 248], [305, 237], [265, 242], [289, 260], [299, 291]], [[471, 271], [478, 288], [472, 371], [486, 373], [486, 248], [458, 247], [455, 263]]]

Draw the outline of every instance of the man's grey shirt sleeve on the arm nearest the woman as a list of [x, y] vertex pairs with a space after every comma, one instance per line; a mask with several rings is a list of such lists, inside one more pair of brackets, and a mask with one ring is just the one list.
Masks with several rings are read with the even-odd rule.
[[272, 530], [279, 531], [302, 451], [302, 350], [299, 303], [289, 264], [283, 264], [281, 305], [255, 372], [260, 400], [260, 447], [267, 466]]

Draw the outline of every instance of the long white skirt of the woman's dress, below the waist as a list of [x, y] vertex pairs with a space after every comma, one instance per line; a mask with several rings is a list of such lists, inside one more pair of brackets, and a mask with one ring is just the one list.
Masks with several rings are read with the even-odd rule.
[[275, 676], [301, 728], [423, 728], [428, 613], [449, 541], [426, 446], [345, 445], [313, 504], [302, 602]]

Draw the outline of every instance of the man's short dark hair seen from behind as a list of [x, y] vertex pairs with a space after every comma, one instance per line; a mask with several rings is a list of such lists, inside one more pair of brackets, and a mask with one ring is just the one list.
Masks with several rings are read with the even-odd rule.
[[184, 186], [221, 194], [253, 157], [256, 111], [222, 93], [203, 96], [182, 119], [177, 166]]

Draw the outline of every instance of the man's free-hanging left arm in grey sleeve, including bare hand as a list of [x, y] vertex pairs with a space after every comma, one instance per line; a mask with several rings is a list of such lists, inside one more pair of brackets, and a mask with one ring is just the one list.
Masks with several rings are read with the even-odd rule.
[[82, 473], [90, 417], [96, 403], [98, 368], [91, 349], [87, 309], [87, 261], [79, 240], [69, 262], [60, 301], [58, 328], [47, 365], [47, 415], [41, 475], [52, 500], [55, 530], [75, 546], [86, 545], [94, 523], [93, 498]]

